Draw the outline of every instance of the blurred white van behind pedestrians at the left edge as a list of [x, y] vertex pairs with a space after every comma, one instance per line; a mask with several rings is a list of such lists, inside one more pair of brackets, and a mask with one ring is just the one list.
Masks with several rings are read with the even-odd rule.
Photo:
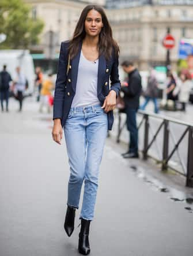
[[29, 50], [0, 50], [0, 71], [2, 71], [3, 65], [7, 66], [7, 72], [10, 73], [12, 79], [16, 77], [16, 67], [20, 66], [21, 72], [28, 80], [28, 90], [25, 93], [33, 92], [35, 69]]

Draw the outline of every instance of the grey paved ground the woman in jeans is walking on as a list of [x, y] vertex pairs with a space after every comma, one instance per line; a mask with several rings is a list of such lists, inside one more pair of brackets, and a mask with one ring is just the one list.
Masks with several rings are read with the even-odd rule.
[[[0, 255], [79, 255], [79, 210], [71, 238], [63, 229], [65, 143], [52, 142], [50, 116], [35, 103], [26, 101], [24, 113], [11, 103], [10, 113], [0, 114]], [[119, 150], [107, 140], [90, 255], [191, 256], [193, 214], [134, 175]]]

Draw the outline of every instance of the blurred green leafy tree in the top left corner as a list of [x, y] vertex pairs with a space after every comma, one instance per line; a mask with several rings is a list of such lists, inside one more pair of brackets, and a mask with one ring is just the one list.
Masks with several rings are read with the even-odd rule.
[[6, 34], [0, 49], [27, 49], [39, 43], [44, 23], [30, 16], [31, 7], [22, 0], [0, 1], [0, 33]]

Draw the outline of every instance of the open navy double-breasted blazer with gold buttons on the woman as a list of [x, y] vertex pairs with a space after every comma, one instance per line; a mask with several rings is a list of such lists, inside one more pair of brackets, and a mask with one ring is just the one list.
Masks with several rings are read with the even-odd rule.
[[[70, 61], [69, 73], [66, 75], [69, 56], [68, 48], [69, 41], [61, 43], [54, 95], [53, 120], [55, 118], [60, 118], [62, 127], [65, 125], [65, 121], [75, 95], [82, 42], [80, 43], [78, 54]], [[108, 95], [109, 90], [114, 90], [117, 96], [119, 94], [120, 80], [118, 65], [118, 58], [115, 58], [113, 55], [109, 61], [105, 60], [104, 55], [99, 56], [97, 97], [99, 98], [101, 105], [103, 105], [104, 99]], [[111, 79], [111, 88], [109, 88], [109, 77]], [[113, 111], [109, 111], [107, 115], [108, 129], [111, 130], [113, 124]]]

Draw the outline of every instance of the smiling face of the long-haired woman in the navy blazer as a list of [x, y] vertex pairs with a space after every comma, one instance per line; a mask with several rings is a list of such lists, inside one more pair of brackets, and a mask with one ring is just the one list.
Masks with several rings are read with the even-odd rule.
[[85, 31], [89, 36], [97, 36], [103, 27], [102, 17], [97, 10], [90, 10], [85, 20]]

